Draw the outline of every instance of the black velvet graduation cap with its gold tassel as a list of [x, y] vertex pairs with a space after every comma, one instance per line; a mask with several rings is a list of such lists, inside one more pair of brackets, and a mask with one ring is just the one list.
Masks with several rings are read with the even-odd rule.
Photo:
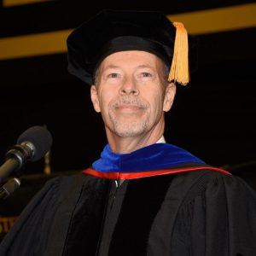
[[68, 71], [92, 84], [96, 68], [108, 55], [143, 50], [166, 62], [169, 81], [185, 85], [197, 69], [196, 46], [182, 23], [172, 23], [160, 12], [104, 9], [68, 36]]

